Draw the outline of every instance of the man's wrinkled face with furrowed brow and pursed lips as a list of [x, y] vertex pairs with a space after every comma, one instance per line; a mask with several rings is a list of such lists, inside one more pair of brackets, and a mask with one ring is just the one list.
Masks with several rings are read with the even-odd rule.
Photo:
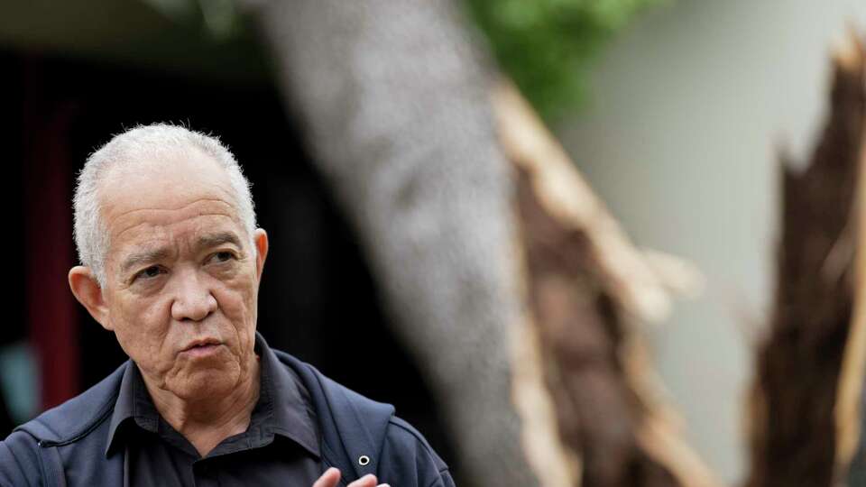
[[226, 171], [197, 150], [106, 174], [106, 313], [151, 387], [184, 400], [231, 391], [254, 370], [267, 236], [244, 230]]

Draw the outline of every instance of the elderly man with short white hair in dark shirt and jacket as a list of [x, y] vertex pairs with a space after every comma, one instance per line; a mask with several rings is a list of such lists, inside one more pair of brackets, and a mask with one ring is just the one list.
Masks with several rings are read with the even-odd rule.
[[0, 442], [0, 484], [454, 485], [391, 406], [256, 332], [268, 236], [216, 139], [115, 136], [79, 175], [75, 238], [72, 293], [130, 360]]

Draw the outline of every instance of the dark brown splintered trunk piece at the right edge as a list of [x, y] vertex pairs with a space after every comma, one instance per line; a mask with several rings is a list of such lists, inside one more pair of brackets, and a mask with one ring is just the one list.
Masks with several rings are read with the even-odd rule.
[[862, 260], [864, 249], [854, 202], [866, 142], [864, 59], [859, 41], [836, 57], [823, 137], [806, 170], [785, 165], [776, 303], [751, 398], [750, 487], [830, 487], [857, 445], [866, 345], [861, 281], [854, 316], [855, 255]]

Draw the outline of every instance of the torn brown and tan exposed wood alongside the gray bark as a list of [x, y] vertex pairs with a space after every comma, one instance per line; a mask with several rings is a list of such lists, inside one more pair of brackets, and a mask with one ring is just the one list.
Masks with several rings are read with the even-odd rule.
[[[660, 399], [637, 327], [667, 315], [671, 290], [696, 288], [696, 272], [636, 250], [516, 90], [502, 84], [494, 99], [518, 174], [521, 280], [535, 332], [521, 345], [541, 357], [571, 484], [718, 485]], [[520, 403], [519, 387], [516, 395]]]

